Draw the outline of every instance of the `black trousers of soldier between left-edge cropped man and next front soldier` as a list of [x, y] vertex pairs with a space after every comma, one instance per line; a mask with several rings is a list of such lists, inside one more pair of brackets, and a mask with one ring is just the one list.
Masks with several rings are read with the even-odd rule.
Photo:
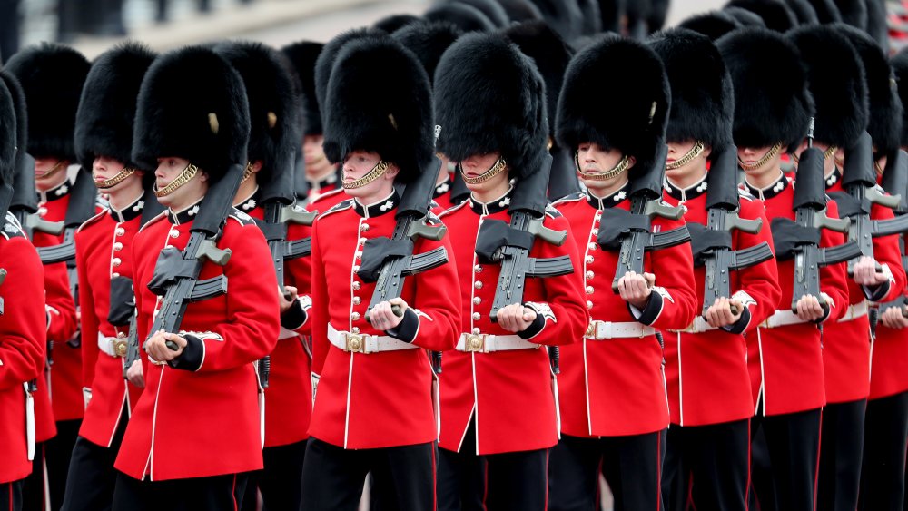
[[66, 477], [63, 511], [110, 510], [117, 475], [114, 461], [120, 452], [128, 417], [128, 411], [124, 408], [111, 447], [93, 444], [84, 437], [76, 438], [69, 475]]

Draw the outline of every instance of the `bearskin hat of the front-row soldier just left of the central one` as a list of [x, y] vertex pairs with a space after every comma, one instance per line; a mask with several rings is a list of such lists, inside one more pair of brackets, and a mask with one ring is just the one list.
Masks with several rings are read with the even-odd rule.
[[[376, 77], [384, 79], [376, 80]], [[354, 151], [378, 152], [410, 182], [434, 155], [429, 76], [416, 55], [390, 35], [344, 45], [328, 82], [325, 155], [342, 162]]]

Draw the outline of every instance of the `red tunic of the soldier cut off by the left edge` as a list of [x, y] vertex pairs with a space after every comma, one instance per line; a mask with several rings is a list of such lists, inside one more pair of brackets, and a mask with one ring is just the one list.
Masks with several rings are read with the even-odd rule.
[[7, 213], [0, 232], [0, 484], [32, 473], [25, 430], [23, 385], [44, 372], [44, 271], [35, 248]]

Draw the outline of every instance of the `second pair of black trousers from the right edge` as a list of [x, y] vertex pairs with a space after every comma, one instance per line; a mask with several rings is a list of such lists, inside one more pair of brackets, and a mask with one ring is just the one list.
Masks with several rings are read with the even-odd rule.
[[861, 486], [867, 399], [823, 408], [817, 509], [854, 511]]

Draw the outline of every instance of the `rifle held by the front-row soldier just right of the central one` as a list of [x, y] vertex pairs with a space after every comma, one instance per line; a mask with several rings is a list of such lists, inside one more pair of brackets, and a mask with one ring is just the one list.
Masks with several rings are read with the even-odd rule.
[[[631, 180], [629, 212], [616, 208], [602, 211], [597, 241], [605, 250], [618, 248], [618, 264], [612, 280], [612, 290], [615, 293], [618, 292], [618, 280], [627, 272], [643, 273], [644, 254], [647, 251], [668, 249], [690, 241], [686, 226], [671, 231], [652, 232], [654, 218], [679, 220], [684, 216], [684, 208], [674, 208], [662, 201], [667, 154], [668, 146], [660, 144], [653, 166]], [[607, 216], [614, 218], [607, 222]], [[601, 227], [607, 223], [612, 223], [609, 229]]]

